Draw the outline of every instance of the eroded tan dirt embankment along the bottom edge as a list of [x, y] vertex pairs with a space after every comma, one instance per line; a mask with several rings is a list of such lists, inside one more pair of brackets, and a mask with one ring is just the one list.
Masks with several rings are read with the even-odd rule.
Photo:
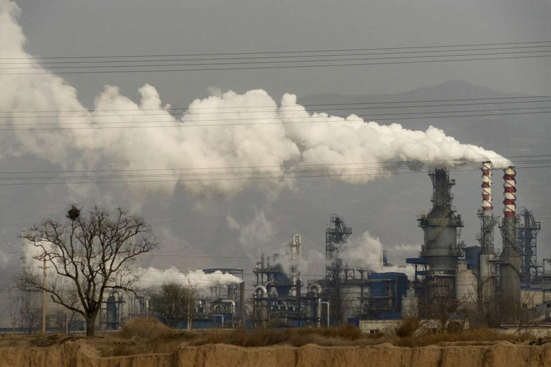
[[187, 366], [545, 366], [551, 365], [551, 343], [461, 343], [405, 348], [375, 346], [270, 346], [243, 348], [227, 344], [183, 346], [173, 353], [101, 357], [86, 339], [52, 346], [0, 347], [0, 366], [187, 367]]

